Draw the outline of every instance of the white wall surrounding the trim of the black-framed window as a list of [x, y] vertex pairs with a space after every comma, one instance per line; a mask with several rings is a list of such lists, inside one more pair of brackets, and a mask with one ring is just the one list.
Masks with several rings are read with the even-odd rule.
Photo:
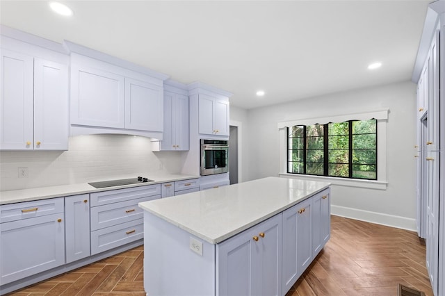
[[277, 122], [388, 108], [387, 189], [332, 186], [332, 212], [414, 230], [415, 97], [416, 85], [403, 82], [248, 110], [244, 180], [278, 175]]

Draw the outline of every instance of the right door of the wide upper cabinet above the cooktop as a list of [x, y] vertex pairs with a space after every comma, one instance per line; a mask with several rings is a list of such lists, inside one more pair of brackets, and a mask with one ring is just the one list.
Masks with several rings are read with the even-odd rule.
[[125, 79], [125, 129], [163, 131], [163, 88]]

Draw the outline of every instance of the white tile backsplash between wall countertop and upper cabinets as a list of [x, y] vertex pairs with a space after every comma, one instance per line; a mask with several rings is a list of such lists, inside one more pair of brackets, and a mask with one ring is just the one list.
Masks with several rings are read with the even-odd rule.
[[[178, 174], [187, 152], [152, 152], [149, 138], [79, 135], [68, 151], [0, 151], [0, 190], [85, 183], [141, 174]], [[28, 174], [19, 178], [19, 167]]]

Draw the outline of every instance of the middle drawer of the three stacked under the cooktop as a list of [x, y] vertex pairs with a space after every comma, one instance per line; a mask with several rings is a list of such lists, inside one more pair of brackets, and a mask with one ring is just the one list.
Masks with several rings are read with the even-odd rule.
[[161, 195], [131, 199], [127, 202], [105, 204], [91, 208], [91, 230], [111, 227], [113, 225], [129, 222], [142, 218], [144, 211], [138, 207], [138, 203], [147, 202], [152, 199], [159, 199]]

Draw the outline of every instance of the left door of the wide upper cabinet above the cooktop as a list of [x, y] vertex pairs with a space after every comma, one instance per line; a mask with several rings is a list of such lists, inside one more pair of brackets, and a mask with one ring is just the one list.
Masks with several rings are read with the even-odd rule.
[[124, 76], [76, 63], [71, 69], [71, 124], [123, 129]]

